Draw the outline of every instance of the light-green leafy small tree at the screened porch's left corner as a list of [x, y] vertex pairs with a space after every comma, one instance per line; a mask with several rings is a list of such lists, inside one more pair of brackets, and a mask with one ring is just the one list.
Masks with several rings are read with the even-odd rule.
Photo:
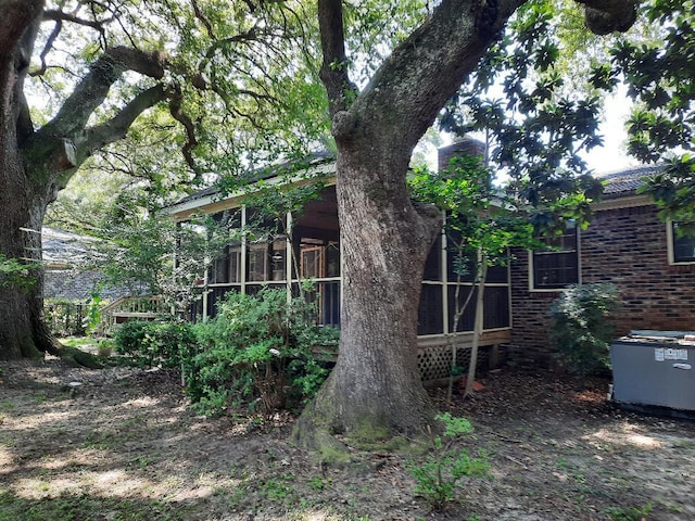
[[161, 204], [152, 187], [124, 186], [84, 229], [99, 240], [90, 242], [91, 254], [76, 269], [97, 269], [105, 285], [160, 295], [167, 308], [184, 312], [198, 291], [195, 282], [239, 230], [232, 219], [210, 216], [177, 225]]

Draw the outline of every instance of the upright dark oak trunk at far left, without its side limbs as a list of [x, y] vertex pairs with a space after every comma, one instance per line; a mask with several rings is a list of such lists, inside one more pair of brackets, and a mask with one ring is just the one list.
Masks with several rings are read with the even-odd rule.
[[46, 202], [36, 193], [20, 151], [28, 116], [23, 81], [42, 9], [41, 1], [3, 0], [0, 23], [0, 254], [22, 259], [35, 282], [0, 280], [0, 358], [38, 356], [52, 347], [42, 325], [40, 230]]

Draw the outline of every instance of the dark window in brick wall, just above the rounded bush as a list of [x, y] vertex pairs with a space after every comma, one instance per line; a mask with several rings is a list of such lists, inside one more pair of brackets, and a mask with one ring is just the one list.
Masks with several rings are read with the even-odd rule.
[[544, 241], [548, 249], [531, 256], [534, 290], [557, 290], [579, 282], [579, 242], [572, 224], [558, 237]]

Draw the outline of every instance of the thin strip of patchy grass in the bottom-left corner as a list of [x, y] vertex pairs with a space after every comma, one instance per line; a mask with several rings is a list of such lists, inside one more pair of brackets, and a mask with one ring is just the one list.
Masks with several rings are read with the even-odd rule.
[[[186, 521], [191, 507], [157, 500], [126, 500], [93, 495], [27, 499], [9, 492], [0, 493], [0, 519], [22, 521]], [[108, 518], [105, 518], [108, 514]]]

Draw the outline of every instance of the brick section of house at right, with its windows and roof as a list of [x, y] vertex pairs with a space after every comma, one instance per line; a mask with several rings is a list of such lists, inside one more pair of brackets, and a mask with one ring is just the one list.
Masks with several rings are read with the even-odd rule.
[[511, 356], [553, 364], [548, 307], [571, 283], [611, 282], [622, 298], [616, 335], [631, 330], [695, 330], [695, 239], [675, 233], [646, 195], [641, 179], [659, 167], [603, 176], [603, 201], [586, 230], [568, 229], [560, 250], [515, 251], [511, 266]]

